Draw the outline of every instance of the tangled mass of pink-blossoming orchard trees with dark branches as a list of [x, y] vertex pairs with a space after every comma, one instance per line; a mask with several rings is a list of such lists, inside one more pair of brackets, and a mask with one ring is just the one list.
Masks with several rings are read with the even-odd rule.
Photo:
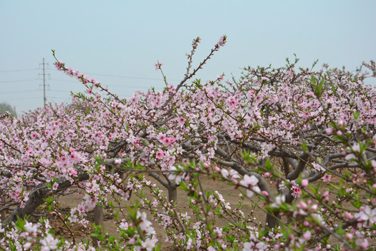
[[[288, 61], [244, 68], [233, 82], [224, 75], [189, 82], [226, 41], [222, 36], [193, 68], [201, 43], [194, 39], [178, 86], [157, 61], [164, 90], [129, 99], [57, 61], [86, 93], [75, 93], [70, 105], [1, 115], [0, 246], [158, 250], [168, 241], [178, 250], [373, 250], [376, 89], [363, 84], [367, 73], [325, 65], [297, 71], [297, 61]], [[375, 73], [373, 61], [364, 65]], [[239, 189], [240, 204], [203, 190], [203, 175]], [[84, 197], [63, 217], [58, 198], [72, 187]], [[187, 193], [188, 211], [178, 206], [177, 188]], [[124, 211], [121, 202], [132, 197], [138, 200]], [[69, 239], [52, 236], [48, 220], [27, 221], [39, 206], [61, 219]], [[90, 227], [93, 208], [114, 215], [116, 236], [95, 226], [88, 232], [95, 243], [76, 238], [70, 225]]]

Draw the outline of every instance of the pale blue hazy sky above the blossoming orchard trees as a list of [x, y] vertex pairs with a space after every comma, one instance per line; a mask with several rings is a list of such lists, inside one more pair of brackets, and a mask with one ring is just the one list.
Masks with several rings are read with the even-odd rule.
[[[6, 1], [0, 0], [0, 102], [17, 112], [43, 105], [42, 59], [49, 63], [47, 100], [69, 102], [83, 91], [54, 68], [58, 59], [95, 77], [120, 97], [162, 89], [154, 63], [171, 84], [187, 67], [185, 54], [200, 36], [197, 65], [222, 34], [228, 43], [198, 75], [240, 77], [245, 66], [280, 67], [297, 54], [299, 66], [356, 70], [376, 60], [376, 1]], [[47, 67], [47, 66], [46, 66]], [[375, 83], [375, 79], [370, 81]]]

